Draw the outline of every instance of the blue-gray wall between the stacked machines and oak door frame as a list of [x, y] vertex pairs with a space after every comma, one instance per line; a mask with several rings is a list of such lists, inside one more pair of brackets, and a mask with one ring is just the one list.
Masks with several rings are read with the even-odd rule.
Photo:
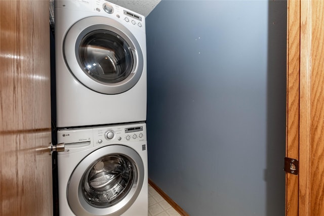
[[149, 178], [190, 215], [285, 215], [282, 1], [161, 1], [146, 19]]

